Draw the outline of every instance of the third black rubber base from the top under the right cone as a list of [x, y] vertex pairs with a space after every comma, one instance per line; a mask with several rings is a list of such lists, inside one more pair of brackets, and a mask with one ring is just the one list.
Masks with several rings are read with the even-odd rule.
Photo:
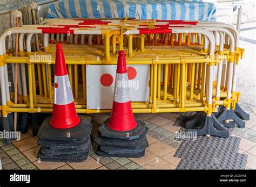
[[[147, 147], [149, 144], [147, 144]], [[107, 154], [127, 154], [127, 153], [140, 153], [145, 150], [145, 146], [139, 148], [115, 147], [115, 146], [99, 146], [99, 149]]]

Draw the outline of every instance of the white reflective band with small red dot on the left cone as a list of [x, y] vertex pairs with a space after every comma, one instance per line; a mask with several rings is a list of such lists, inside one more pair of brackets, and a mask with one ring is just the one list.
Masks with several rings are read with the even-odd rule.
[[71, 85], [69, 82], [69, 75], [55, 76], [54, 84], [54, 104], [66, 105], [74, 101]]

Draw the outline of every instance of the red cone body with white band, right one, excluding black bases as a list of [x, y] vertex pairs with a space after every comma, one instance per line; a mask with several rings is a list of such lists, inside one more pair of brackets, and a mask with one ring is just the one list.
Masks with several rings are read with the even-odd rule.
[[132, 113], [124, 51], [119, 51], [112, 112], [107, 124], [112, 130], [129, 131], [137, 126]]

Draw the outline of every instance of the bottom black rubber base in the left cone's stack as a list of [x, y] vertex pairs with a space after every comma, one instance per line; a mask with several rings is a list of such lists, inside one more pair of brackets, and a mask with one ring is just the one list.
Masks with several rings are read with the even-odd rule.
[[42, 154], [42, 149], [39, 149], [38, 158], [41, 161], [53, 161], [53, 162], [83, 162], [87, 159], [89, 152], [86, 153], [73, 153], [66, 155], [51, 155], [44, 156]]

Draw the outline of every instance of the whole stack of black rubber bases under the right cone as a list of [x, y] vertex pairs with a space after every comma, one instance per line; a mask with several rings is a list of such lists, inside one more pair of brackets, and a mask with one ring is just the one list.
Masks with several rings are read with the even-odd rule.
[[96, 154], [113, 157], [142, 157], [149, 147], [146, 139], [147, 127], [144, 121], [136, 120], [137, 126], [130, 131], [114, 131], [107, 119], [99, 127], [95, 141], [98, 144]]

